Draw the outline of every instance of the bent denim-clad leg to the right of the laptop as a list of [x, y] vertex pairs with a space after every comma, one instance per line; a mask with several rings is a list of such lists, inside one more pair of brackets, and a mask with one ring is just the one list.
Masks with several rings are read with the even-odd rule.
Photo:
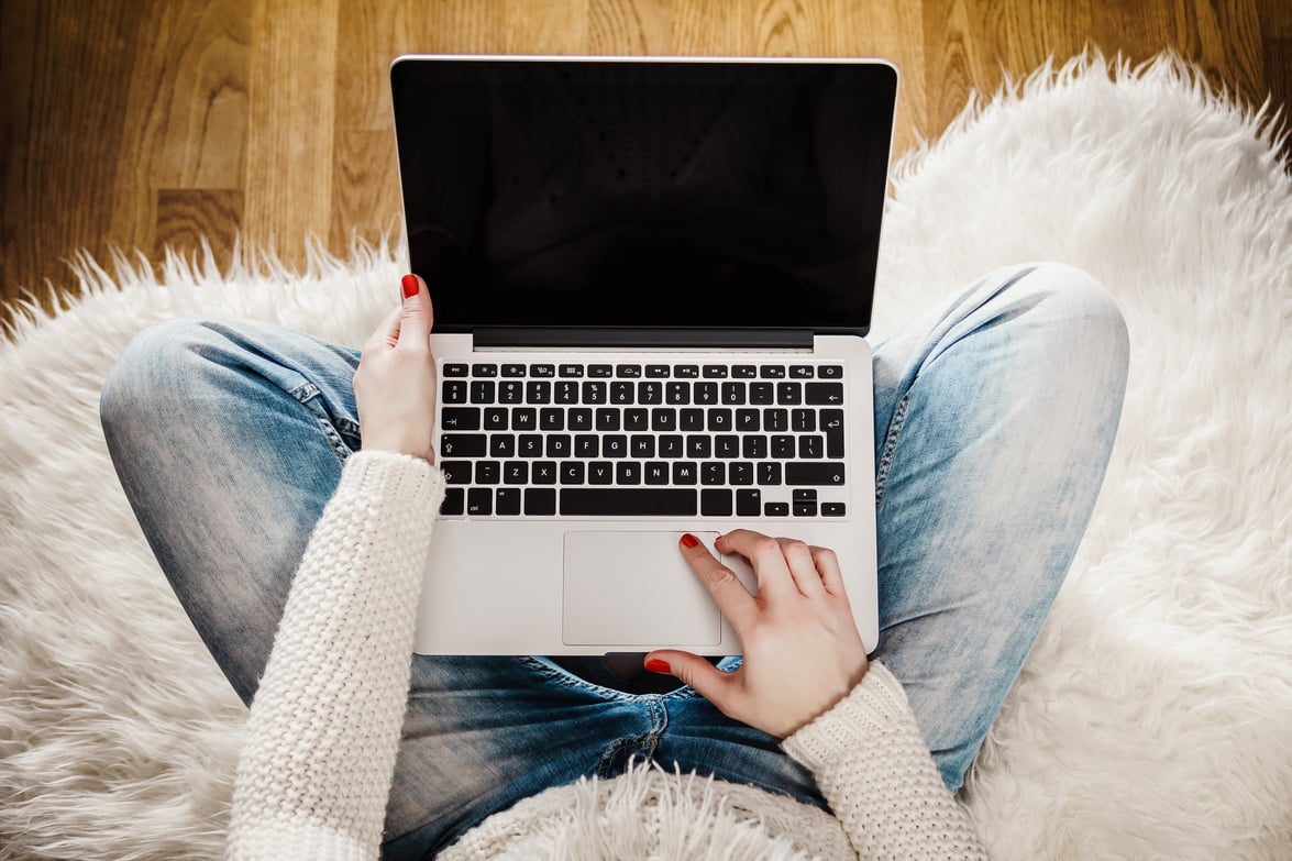
[[875, 349], [882, 659], [956, 791], [1085, 531], [1125, 324], [1085, 273], [996, 271]]

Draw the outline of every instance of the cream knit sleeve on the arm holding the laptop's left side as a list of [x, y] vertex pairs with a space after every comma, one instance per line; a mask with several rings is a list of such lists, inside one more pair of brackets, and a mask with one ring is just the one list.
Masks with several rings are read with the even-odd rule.
[[346, 460], [252, 703], [226, 857], [377, 857], [443, 484], [407, 455]]

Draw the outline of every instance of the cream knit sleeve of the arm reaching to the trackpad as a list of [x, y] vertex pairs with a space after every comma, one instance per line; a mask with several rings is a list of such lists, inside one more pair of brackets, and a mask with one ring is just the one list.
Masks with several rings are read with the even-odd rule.
[[987, 858], [882, 663], [783, 747], [813, 772], [859, 858]]

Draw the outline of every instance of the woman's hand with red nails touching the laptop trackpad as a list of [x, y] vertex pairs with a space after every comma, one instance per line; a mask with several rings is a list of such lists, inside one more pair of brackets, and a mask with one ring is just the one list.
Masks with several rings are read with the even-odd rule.
[[646, 668], [671, 672], [727, 717], [784, 738], [828, 711], [862, 680], [870, 663], [835, 552], [738, 529], [717, 539], [722, 553], [749, 560], [758, 593], [695, 537], [682, 537], [691, 570], [744, 644], [744, 663], [721, 672], [687, 652], [646, 655]]

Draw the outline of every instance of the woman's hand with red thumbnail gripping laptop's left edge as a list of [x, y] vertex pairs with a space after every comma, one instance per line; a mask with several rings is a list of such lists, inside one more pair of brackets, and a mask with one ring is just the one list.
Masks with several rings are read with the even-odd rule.
[[354, 403], [363, 447], [398, 451], [435, 463], [435, 357], [430, 293], [417, 275], [404, 275], [403, 304], [381, 322], [359, 357]]

